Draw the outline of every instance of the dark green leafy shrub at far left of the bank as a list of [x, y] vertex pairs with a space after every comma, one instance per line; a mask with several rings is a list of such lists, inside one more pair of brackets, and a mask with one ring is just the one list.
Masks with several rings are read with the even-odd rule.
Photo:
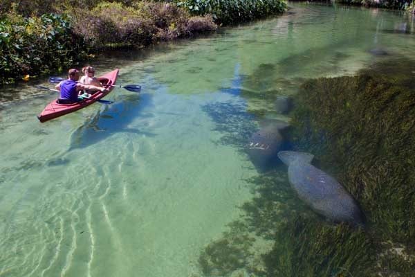
[[71, 64], [84, 54], [80, 45], [64, 15], [26, 18], [9, 12], [0, 19], [0, 83]]

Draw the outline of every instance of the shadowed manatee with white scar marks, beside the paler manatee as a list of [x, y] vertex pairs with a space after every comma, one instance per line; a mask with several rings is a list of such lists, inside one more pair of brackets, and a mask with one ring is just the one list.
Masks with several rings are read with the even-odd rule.
[[264, 120], [260, 125], [261, 129], [250, 137], [248, 155], [257, 170], [264, 172], [278, 161], [277, 153], [284, 142], [280, 132], [289, 124], [281, 120]]

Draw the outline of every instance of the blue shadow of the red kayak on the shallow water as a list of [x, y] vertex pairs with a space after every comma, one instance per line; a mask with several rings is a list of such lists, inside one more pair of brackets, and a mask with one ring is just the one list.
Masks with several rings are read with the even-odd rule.
[[140, 118], [152, 117], [151, 114], [142, 112], [142, 109], [149, 105], [152, 105], [151, 94], [149, 93], [120, 96], [116, 103], [106, 105], [104, 110], [98, 111], [91, 120], [73, 132], [69, 150], [86, 148], [119, 132], [155, 136], [156, 134], [151, 132], [129, 127], [131, 121], [138, 116]]

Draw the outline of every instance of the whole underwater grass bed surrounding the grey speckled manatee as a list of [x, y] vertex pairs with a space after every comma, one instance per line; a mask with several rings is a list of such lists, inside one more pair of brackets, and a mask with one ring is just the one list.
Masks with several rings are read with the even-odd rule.
[[[203, 273], [413, 276], [414, 76], [415, 61], [396, 57], [355, 76], [306, 80], [294, 99], [293, 150], [314, 154], [313, 163], [344, 186], [365, 213], [365, 227], [325, 222], [297, 198], [284, 166], [277, 166], [249, 180], [254, 198], [241, 206], [243, 216], [230, 231], [201, 253]], [[244, 235], [249, 243], [234, 245]], [[241, 260], [225, 265], [232, 260], [224, 248], [244, 251], [237, 254]]]

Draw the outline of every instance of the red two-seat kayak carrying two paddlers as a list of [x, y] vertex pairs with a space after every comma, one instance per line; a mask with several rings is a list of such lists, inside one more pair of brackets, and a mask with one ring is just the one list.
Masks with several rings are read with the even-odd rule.
[[98, 81], [102, 83], [104, 87], [109, 89], [108, 91], [97, 91], [93, 93], [91, 98], [84, 99], [80, 102], [72, 103], [72, 104], [58, 104], [56, 101], [57, 99], [50, 102], [42, 111], [37, 118], [39, 118], [40, 122], [45, 122], [53, 118], [57, 118], [59, 116], [63, 116], [65, 114], [69, 114], [73, 111], [77, 111], [78, 109], [82, 109], [86, 106], [91, 105], [93, 102], [100, 100], [104, 96], [106, 96], [108, 93], [111, 92], [113, 89], [113, 84], [116, 84], [116, 80], [118, 77], [118, 71], [119, 69], [116, 69], [114, 71], [111, 71], [107, 74], [102, 75], [101, 77], [98, 77]]

